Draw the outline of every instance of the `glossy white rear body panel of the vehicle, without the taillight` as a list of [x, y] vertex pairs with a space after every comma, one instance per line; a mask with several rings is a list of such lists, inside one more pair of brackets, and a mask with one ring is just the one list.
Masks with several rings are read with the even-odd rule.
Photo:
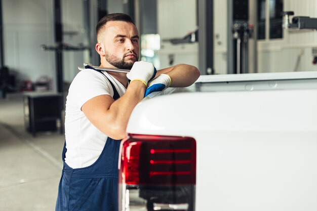
[[196, 88], [145, 99], [127, 127], [196, 140], [195, 210], [316, 210], [317, 89]]

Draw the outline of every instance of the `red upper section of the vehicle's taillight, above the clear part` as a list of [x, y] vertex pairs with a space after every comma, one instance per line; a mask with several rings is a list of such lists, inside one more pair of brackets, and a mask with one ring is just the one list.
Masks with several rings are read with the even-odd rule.
[[121, 176], [128, 185], [194, 185], [196, 142], [190, 137], [130, 134], [122, 146]]

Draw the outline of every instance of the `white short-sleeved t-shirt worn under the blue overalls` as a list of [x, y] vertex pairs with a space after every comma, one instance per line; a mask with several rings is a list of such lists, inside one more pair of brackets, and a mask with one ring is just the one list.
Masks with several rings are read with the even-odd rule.
[[[69, 87], [65, 108], [65, 162], [72, 168], [87, 167], [93, 164], [101, 154], [107, 136], [99, 131], [85, 116], [82, 106], [99, 95], [110, 95], [113, 83], [119, 96], [123, 96], [126, 88], [114, 77], [103, 71], [107, 78], [92, 69], [79, 72]], [[107, 125], [105, 125], [107, 126]]]

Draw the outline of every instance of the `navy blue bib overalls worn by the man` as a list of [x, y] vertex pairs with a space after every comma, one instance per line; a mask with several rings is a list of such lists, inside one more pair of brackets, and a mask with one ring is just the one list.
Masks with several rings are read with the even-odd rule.
[[[113, 99], [116, 100], [119, 95], [111, 81], [110, 83]], [[117, 211], [120, 141], [108, 137], [98, 159], [83, 168], [71, 168], [65, 163], [65, 142], [62, 152], [64, 166], [58, 187], [56, 211]]]

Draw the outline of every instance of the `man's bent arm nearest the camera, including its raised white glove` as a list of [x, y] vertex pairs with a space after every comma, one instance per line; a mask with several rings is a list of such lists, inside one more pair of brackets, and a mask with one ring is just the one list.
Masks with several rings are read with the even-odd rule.
[[135, 62], [127, 77], [131, 80], [126, 93], [116, 101], [109, 95], [88, 100], [82, 111], [96, 128], [108, 137], [120, 140], [126, 137], [126, 128], [133, 108], [144, 98], [147, 82], [156, 70], [148, 62]]

